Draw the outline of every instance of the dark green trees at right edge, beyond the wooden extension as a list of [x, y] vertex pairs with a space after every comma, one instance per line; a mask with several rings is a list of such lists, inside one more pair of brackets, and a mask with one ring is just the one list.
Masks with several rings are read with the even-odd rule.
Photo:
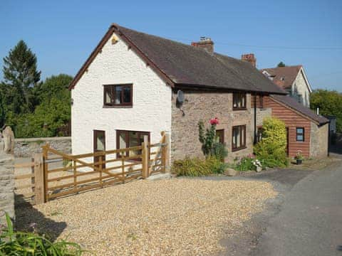
[[337, 132], [342, 132], [342, 93], [336, 90], [314, 90], [310, 95], [310, 107], [323, 115], [336, 117]]

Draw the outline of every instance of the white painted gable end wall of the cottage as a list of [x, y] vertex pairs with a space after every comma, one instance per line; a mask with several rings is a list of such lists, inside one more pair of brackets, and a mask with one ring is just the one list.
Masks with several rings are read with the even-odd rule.
[[[103, 85], [133, 83], [132, 108], [103, 108]], [[93, 151], [93, 130], [116, 149], [116, 129], [150, 132], [152, 143], [171, 130], [171, 88], [119, 39], [109, 40], [71, 91], [72, 151]]]

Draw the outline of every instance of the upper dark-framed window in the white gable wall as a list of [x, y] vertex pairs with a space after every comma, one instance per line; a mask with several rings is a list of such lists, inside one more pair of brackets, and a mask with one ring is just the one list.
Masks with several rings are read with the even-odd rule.
[[103, 105], [132, 106], [133, 85], [103, 85]]

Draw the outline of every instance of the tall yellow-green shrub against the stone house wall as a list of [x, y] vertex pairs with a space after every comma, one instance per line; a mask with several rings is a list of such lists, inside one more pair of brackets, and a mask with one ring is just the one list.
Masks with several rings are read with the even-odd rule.
[[274, 117], [266, 117], [262, 126], [261, 142], [254, 146], [254, 154], [262, 166], [284, 167], [289, 164], [286, 156], [286, 127]]

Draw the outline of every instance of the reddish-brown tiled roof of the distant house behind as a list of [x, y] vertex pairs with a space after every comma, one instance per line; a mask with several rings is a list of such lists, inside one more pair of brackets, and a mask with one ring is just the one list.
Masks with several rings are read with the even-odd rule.
[[291, 89], [294, 80], [296, 79], [302, 65], [285, 66], [277, 68], [264, 68], [261, 69], [261, 73], [266, 71], [273, 77], [273, 82], [282, 87], [284, 90]]

